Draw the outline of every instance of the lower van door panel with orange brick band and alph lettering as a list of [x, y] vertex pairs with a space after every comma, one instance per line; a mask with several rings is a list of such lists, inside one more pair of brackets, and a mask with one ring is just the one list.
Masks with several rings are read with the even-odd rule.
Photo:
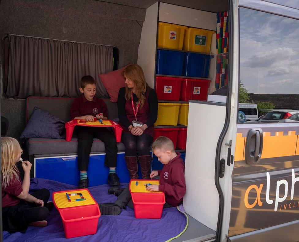
[[263, 130], [261, 160], [247, 164], [246, 136], [257, 126], [237, 124], [229, 236], [298, 219], [299, 127], [281, 126], [258, 126]]

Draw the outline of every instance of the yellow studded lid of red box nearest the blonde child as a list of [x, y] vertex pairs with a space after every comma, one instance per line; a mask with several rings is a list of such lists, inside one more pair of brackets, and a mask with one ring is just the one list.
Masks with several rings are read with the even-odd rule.
[[[79, 201], [72, 201], [69, 202], [69, 199], [66, 196], [66, 193], [69, 195], [70, 200], [80, 199]], [[81, 200], [80, 194], [84, 197], [85, 200]], [[74, 195], [73, 195], [74, 194]], [[74, 197], [74, 198], [72, 198]], [[67, 191], [67, 192], [59, 192], [54, 194], [54, 201], [58, 208], [68, 208], [68, 207], [77, 207], [77, 206], [85, 206], [90, 204], [95, 204], [96, 202], [90, 196], [87, 190], [74, 190], [74, 191]]]

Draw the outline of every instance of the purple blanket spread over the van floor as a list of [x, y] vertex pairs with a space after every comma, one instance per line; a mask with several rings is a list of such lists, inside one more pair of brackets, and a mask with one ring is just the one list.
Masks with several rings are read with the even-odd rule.
[[[127, 184], [123, 184], [127, 185]], [[89, 187], [90, 193], [97, 202], [114, 202], [116, 197], [109, 195], [109, 185]], [[53, 191], [76, 189], [73, 185], [47, 179], [33, 178], [30, 182], [30, 192], [47, 188]], [[66, 239], [59, 212], [54, 208], [47, 218], [48, 225], [44, 228], [29, 226], [26, 233], [3, 232], [5, 241], [166, 241], [180, 234], [187, 224], [187, 219], [176, 207], [164, 209], [161, 219], [136, 219], [134, 210], [127, 207], [118, 216], [101, 216], [97, 233], [94, 235]]]

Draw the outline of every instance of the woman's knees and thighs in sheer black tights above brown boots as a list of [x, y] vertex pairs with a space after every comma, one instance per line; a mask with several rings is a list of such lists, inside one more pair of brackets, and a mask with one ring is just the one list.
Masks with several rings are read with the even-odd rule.
[[153, 137], [149, 134], [136, 136], [133, 134], [122, 134], [122, 142], [125, 145], [125, 156], [150, 155], [149, 145], [153, 142]]

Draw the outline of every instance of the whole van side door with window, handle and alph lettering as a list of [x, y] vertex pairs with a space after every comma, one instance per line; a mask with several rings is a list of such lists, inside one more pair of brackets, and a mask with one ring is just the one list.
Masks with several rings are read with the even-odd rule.
[[[299, 10], [271, 0], [239, 0], [234, 8], [236, 96], [241, 82], [253, 103], [299, 110]], [[238, 123], [237, 114], [230, 219], [223, 220], [228, 241], [297, 241], [299, 123]]]

